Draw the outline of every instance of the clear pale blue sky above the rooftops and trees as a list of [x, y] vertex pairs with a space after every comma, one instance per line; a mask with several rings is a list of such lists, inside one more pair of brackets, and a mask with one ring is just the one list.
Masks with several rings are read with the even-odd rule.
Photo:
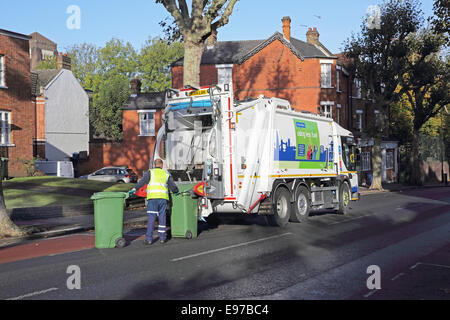
[[[37, 31], [58, 43], [58, 50], [75, 43], [103, 46], [112, 37], [140, 49], [149, 37], [162, 36], [159, 25], [169, 17], [154, 0], [41, 0], [7, 1], [0, 11], [0, 29], [24, 34]], [[317, 27], [320, 41], [337, 53], [342, 43], [358, 32], [370, 5], [380, 0], [239, 0], [218, 40], [266, 39], [282, 32], [281, 18], [291, 17], [291, 36], [305, 40], [308, 27]], [[66, 13], [70, 5], [81, 10], [80, 29], [70, 30]], [[425, 16], [432, 15], [432, 0], [422, 0]], [[317, 17], [319, 16], [319, 17]]]

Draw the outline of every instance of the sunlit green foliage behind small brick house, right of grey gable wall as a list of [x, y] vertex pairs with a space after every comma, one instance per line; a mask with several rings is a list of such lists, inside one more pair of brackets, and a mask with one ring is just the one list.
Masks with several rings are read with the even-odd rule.
[[103, 47], [82, 43], [67, 48], [72, 72], [94, 92], [89, 121], [94, 138], [122, 138], [122, 107], [130, 95], [129, 81], [142, 77], [144, 91], [170, 86], [170, 65], [183, 54], [183, 44], [149, 39], [137, 52], [129, 42], [111, 39]]

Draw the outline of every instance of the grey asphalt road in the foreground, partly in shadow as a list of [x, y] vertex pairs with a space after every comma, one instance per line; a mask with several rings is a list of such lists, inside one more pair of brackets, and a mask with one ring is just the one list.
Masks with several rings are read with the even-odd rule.
[[[0, 264], [0, 299], [450, 300], [450, 188], [366, 195], [346, 216], [286, 228], [218, 220], [196, 239]], [[81, 289], [67, 288], [72, 265]], [[368, 288], [378, 274], [380, 289]]]

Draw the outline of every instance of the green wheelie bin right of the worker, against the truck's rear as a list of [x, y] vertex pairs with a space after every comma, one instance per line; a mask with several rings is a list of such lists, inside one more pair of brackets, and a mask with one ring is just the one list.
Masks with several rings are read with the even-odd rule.
[[191, 197], [193, 185], [178, 185], [180, 193], [172, 195], [170, 230], [175, 238], [196, 238], [198, 226], [198, 201]]

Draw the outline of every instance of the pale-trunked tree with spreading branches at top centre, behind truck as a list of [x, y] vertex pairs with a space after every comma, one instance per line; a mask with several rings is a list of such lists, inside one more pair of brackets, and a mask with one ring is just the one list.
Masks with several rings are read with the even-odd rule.
[[237, 0], [192, 0], [189, 13], [186, 0], [156, 0], [172, 15], [178, 32], [184, 41], [183, 83], [200, 85], [200, 63], [206, 39], [229, 22]]

